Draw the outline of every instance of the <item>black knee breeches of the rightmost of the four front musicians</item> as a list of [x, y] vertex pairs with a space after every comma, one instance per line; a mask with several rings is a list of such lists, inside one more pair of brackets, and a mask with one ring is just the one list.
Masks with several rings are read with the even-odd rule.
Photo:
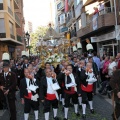
[[92, 92], [86, 92], [86, 91], [82, 91], [82, 103], [83, 104], [87, 104], [87, 101], [92, 101], [93, 99], [93, 95]]

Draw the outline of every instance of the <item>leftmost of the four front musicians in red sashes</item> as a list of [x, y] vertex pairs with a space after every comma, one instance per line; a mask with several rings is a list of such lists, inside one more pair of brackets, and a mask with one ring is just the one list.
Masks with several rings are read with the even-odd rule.
[[38, 120], [39, 110], [39, 81], [31, 75], [28, 68], [24, 69], [25, 78], [20, 81], [20, 98], [24, 104], [24, 120], [29, 119], [31, 108], [34, 110], [35, 120]]

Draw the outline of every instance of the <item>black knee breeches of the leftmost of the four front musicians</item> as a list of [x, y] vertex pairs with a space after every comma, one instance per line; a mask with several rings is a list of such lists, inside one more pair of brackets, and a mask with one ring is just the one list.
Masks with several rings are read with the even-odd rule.
[[24, 104], [24, 113], [30, 113], [31, 108], [36, 111], [39, 110], [39, 101], [33, 101], [30, 99], [24, 99], [25, 104]]

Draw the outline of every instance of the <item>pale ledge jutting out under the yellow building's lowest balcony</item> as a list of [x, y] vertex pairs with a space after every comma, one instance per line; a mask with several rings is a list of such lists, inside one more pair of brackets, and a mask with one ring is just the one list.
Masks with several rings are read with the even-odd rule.
[[21, 42], [19, 42], [17, 40], [11, 39], [11, 38], [0, 38], [0, 41], [9, 43], [9, 44], [12, 44], [12, 45], [15, 45], [15, 46], [22, 46], [22, 45], [24, 45], [23, 43], [21, 43]]

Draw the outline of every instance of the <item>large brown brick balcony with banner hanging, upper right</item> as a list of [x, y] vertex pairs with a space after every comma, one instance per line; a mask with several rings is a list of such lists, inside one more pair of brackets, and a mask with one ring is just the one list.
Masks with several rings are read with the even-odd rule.
[[77, 31], [78, 37], [83, 37], [88, 34], [94, 34], [94, 32], [103, 31], [109, 27], [115, 25], [115, 13], [114, 9], [105, 8], [104, 12], [97, 18], [97, 29], [93, 29], [92, 19], [86, 23], [86, 27]]

